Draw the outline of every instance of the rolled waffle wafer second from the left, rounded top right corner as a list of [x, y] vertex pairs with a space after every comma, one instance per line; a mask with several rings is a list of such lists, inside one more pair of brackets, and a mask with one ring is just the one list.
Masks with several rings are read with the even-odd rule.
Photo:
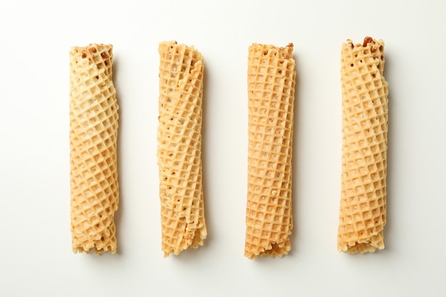
[[207, 236], [202, 189], [204, 59], [195, 48], [162, 42], [157, 160], [164, 256], [197, 248]]

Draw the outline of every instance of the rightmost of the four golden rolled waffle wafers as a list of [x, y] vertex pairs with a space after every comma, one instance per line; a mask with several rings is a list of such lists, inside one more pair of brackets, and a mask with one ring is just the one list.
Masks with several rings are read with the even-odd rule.
[[338, 251], [352, 254], [384, 249], [388, 83], [383, 70], [383, 41], [343, 43]]

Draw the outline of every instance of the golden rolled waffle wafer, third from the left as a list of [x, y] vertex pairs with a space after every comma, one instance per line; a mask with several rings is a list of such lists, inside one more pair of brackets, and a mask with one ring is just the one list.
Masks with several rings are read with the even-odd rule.
[[248, 56], [248, 193], [244, 256], [291, 250], [293, 44], [254, 43]]

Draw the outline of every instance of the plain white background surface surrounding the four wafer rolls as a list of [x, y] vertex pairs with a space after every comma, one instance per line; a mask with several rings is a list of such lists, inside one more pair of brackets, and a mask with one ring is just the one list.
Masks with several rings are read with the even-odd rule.
[[[445, 296], [446, 2], [1, 1], [0, 296]], [[68, 2], [67, 2], [68, 3]], [[385, 249], [336, 249], [340, 52], [385, 41]], [[156, 160], [157, 45], [205, 59], [208, 238], [164, 259]], [[284, 258], [244, 253], [247, 48], [296, 58], [294, 230]], [[73, 254], [68, 51], [111, 43], [120, 104], [118, 253]]]

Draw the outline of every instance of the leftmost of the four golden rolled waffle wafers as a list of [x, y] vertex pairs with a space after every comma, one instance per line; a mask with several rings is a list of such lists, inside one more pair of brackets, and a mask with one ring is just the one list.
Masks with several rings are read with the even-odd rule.
[[73, 47], [69, 54], [72, 248], [114, 254], [119, 189], [113, 46]]

